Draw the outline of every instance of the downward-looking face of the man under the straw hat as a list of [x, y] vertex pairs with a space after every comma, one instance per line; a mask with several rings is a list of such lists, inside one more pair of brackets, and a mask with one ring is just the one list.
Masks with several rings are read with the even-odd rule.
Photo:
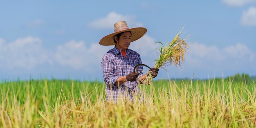
[[119, 37], [119, 40], [117, 40], [117, 36], [115, 36], [115, 40], [117, 41], [117, 48], [120, 49], [128, 49], [131, 43], [131, 33], [130, 31], [126, 31], [121, 33], [121, 36]]

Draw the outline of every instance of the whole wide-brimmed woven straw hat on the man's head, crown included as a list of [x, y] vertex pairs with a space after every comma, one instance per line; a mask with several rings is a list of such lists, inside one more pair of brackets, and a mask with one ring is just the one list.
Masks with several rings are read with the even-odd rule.
[[119, 21], [114, 24], [114, 33], [104, 36], [100, 41], [100, 45], [108, 46], [108, 45], [115, 45], [114, 36], [125, 31], [131, 31], [132, 37], [131, 42], [138, 40], [144, 34], [146, 34], [147, 29], [144, 27], [135, 27], [129, 29], [125, 21]]

